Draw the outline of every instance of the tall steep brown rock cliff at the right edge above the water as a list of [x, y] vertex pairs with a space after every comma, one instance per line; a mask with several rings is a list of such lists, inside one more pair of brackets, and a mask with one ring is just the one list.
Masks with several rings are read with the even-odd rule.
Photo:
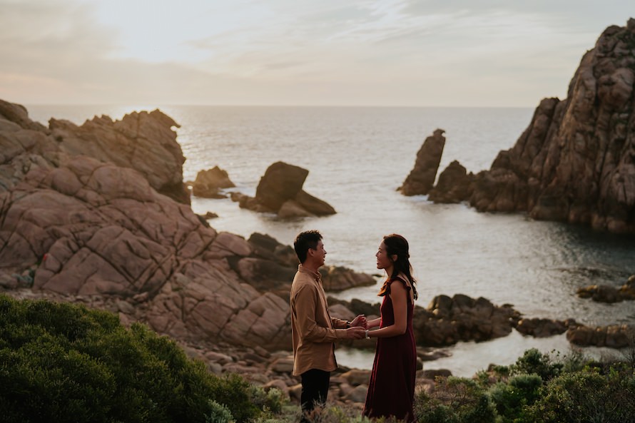
[[609, 26], [567, 98], [541, 101], [516, 145], [469, 178], [464, 200], [480, 211], [635, 233], [634, 52], [635, 19]]

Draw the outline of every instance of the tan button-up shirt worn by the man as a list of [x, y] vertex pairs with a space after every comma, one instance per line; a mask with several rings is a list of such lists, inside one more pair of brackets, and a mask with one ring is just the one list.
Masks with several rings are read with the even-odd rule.
[[291, 333], [293, 335], [293, 374], [307, 370], [332, 372], [337, 369], [335, 344], [345, 335], [346, 320], [332, 319], [320, 272], [298, 266], [291, 285]]

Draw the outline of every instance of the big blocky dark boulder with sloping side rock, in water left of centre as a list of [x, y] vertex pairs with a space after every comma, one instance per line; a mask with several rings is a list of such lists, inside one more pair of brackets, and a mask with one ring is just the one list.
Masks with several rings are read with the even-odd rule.
[[233, 193], [241, 208], [261, 213], [277, 213], [281, 218], [305, 218], [335, 214], [325, 201], [306, 193], [302, 186], [309, 171], [299, 166], [276, 162], [260, 178], [255, 198]]

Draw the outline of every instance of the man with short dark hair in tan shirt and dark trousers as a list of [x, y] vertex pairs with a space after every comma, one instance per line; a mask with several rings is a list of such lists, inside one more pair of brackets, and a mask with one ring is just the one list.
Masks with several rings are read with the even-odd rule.
[[300, 265], [291, 285], [293, 374], [302, 379], [301, 422], [308, 422], [316, 404], [326, 401], [330, 372], [337, 369], [335, 341], [359, 340], [366, 334], [366, 318], [352, 322], [330, 317], [320, 272], [326, 250], [317, 230], [300, 233], [293, 243]]

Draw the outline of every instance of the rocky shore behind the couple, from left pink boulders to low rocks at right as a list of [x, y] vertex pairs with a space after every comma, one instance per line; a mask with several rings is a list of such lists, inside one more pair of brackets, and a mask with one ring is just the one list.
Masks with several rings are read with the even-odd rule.
[[[110, 310], [125, 324], [145, 322], [213, 372], [238, 372], [297, 399], [288, 329], [293, 248], [265, 234], [218, 232], [193, 213], [174, 127], [161, 111], [82, 126], [52, 119], [45, 127], [24, 107], [0, 101], [0, 288]], [[228, 184], [219, 170], [203, 174], [210, 189], [218, 180]], [[322, 275], [328, 292], [376, 283], [344, 267], [325, 267]], [[330, 305], [342, 318], [379, 312], [359, 300], [330, 298]], [[567, 331], [574, 343], [619, 347], [628, 330], [528, 319], [511, 305], [465, 295], [439, 295], [415, 315], [424, 387], [435, 374], [422, 363], [438, 357], [435, 347], [512, 330]], [[584, 335], [590, 332], [605, 335]], [[351, 345], [374, 348], [372, 341]], [[332, 398], [360, 405], [367, 380], [365, 370], [340, 370]]]

